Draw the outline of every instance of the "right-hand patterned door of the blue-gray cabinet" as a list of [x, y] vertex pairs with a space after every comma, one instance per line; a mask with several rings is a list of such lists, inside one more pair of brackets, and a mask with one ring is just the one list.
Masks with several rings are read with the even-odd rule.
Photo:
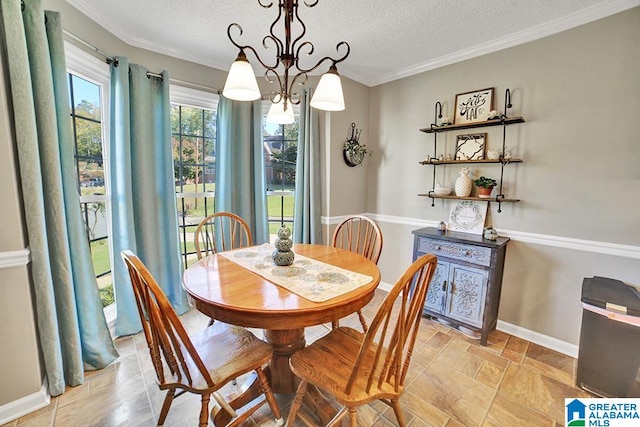
[[489, 273], [479, 268], [451, 264], [447, 312], [452, 319], [482, 327]]

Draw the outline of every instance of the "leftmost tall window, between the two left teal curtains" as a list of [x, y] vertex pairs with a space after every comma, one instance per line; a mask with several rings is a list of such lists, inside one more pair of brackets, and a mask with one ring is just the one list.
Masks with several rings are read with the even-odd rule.
[[69, 106], [80, 207], [91, 249], [93, 269], [103, 307], [113, 308], [109, 247], [110, 218], [107, 167], [105, 94], [109, 67], [75, 46], [65, 44]]

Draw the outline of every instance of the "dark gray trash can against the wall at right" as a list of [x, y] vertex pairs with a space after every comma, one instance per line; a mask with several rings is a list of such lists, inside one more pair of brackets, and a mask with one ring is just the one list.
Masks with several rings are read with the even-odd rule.
[[640, 397], [640, 291], [585, 278], [576, 385], [602, 397]]

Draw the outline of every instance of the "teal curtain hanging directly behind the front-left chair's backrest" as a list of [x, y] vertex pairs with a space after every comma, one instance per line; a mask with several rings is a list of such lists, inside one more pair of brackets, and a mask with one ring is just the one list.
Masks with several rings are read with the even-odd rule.
[[[110, 164], [116, 335], [142, 330], [120, 252], [133, 251], [149, 268], [178, 314], [189, 309], [182, 290], [169, 75], [150, 76], [118, 57], [111, 63]], [[117, 65], [116, 65], [117, 64]]]

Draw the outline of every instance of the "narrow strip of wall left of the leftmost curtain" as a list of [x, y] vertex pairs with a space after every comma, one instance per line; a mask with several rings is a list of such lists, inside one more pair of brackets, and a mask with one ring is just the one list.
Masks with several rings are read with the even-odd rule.
[[[43, 379], [6, 72], [4, 42], [0, 40], [0, 408], [37, 394]], [[0, 410], [0, 424], [2, 419]]]

